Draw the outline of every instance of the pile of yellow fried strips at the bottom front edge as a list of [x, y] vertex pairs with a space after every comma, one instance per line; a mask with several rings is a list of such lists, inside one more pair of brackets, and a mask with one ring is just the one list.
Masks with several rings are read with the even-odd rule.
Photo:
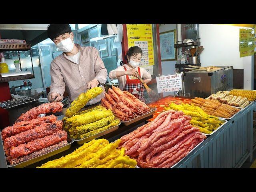
[[39, 168], [134, 168], [137, 162], [117, 149], [120, 139], [109, 143], [106, 139], [84, 143], [71, 154], [48, 161]]

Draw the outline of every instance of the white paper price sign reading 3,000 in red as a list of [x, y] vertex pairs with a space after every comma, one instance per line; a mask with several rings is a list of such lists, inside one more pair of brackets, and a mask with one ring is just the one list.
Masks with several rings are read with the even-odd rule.
[[181, 74], [156, 76], [157, 92], [172, 92], [182, 90]]

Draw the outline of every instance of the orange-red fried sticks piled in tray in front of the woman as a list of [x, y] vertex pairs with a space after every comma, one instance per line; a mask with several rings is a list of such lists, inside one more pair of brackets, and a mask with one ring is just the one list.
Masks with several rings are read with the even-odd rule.
[[144, 102], [115, 86], [108, 89], [108, 93], [105, 93], [105, 98], [101, 100], [101, 104], [112, 110], [114, 115], [122, 121], [131, 120], [151, 111]]

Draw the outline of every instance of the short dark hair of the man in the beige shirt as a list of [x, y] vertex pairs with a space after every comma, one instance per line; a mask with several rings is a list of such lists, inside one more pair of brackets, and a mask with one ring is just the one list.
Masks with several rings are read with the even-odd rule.
[[50, 24], [47, 28], [47, 34], [51, 40], [64, 33], [70, 34], [71, 32], [72, 30], [69, 24]]

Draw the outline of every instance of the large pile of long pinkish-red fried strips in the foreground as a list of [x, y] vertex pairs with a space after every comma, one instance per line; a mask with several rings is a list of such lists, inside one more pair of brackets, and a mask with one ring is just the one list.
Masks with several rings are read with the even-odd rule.
[[168, 110], [122, 136], [119, 148], [142, 168], [170, 168], [206, 139], [182, 111]]

